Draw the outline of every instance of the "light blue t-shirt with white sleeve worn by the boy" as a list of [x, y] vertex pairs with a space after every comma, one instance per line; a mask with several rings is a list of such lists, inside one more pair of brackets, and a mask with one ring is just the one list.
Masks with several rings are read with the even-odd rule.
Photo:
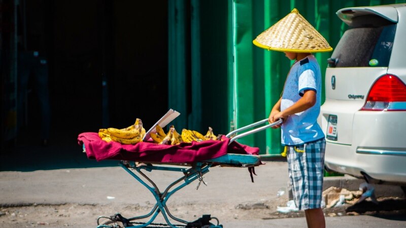
[[324, 133], [317, 123], [321, 105], [321, 72], [313, 55], [295, 62], [290, 68], [282, 94], [281, 111], [296, 103], [305, 90], [316, 91], [316, 104], [290, 115], [282, 124], [283, 145], [301, 145], [324, 138]]

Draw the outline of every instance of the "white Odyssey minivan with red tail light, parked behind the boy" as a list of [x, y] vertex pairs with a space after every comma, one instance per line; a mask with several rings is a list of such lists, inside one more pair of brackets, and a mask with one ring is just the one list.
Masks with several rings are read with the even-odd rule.
[[337, 11], [319, 121], [328, 171], [406, 187], [406, 4]]

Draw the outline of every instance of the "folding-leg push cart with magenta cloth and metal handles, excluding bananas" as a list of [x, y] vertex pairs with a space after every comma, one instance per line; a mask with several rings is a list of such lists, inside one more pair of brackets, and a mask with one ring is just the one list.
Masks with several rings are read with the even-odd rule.
[[[268, 119], [264, 119], [231, 131], [226, 136], [223, 136], [222, 140], [193, 141], [192, 143], [180, 143], [179, 145], [158, 145], [151, 142], [123, 145], [116, 142], [106, 143], [98, 137], [97, 133], [88, 132], [80, 134], [78, 141], [83, 146], [83, 151], [88, 158], [96, 159], [97, 161], [119, 160], [119, 166], [143, 184], [156, 200], [152, 210], [145, 215], [131, 218], [124, 218], [119, 213], [112, 216], [100, 216], [97, 218], [97, 228], [223, 227], [219, 220], [216, 217], [211, 217], [211, 215], [203, 215], [192, 222], [177, 218], [171, 214], [166, 202], [172, 195], [191, 182], [195, 180], [199, 181], [197, 187], [200, 183], [204, 183], [203, 175], [208, 173], [209, 169], [213, 166], [245, 167], [250, 170], [252, 178], [253, 168], [263, 164], [258, 156], [259, 148], [243, 145], [235, 140], [280, 125], [282, 120], [273, 124], [267, 123]], [[238, 134], [262, 124], [266, 125]], [[145, 172], [155, 170], [179, 172], [180, 177], [168, 184], [163, 192], [161, 192], [155, 182]], [[166, 224], [154, 223], [159, 213], [163, 216]], [[142, 221], [147, 219], [149, 220]], [[174, 224], [173, 222], [181, 224]]]

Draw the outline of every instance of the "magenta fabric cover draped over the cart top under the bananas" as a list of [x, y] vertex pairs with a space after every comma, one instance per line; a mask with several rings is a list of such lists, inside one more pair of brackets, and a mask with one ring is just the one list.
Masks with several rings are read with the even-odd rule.
[[85, 132], [78, 136], [78, 143], [79, 145], [84, 144], [87, 157], [97, 161], [191, 163], [218, 158], [227, 153], [246, 155], [258, 155], [259, 153], [258, 147], [243, 145], [235, 141], [228, 145], [229, 141], [229, 138], [223, 136], [221, 141], [182, 142], [178, 145], [159, 145], [152, 141], [126, 145], [101, 140], [94, 132]]

